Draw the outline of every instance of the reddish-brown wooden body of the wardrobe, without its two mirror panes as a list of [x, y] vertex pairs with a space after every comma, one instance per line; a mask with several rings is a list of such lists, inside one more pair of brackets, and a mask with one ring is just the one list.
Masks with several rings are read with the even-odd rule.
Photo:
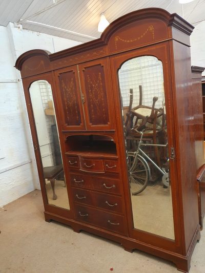
[[[142, 9], [112, 22], [99, 39], [50, 55], [31, 50], [19, 56], [15, 64], [22, 75], [37, 148], [34, 150], [46, 221], [56, 220], [70, 225], [75, 232], [86, 230], [114, 240], [128, 251], [139, 249], [170, 260], [183, 272], [189, 271], [191, 255], [200, 238], [192, 130], [192, 31], [193, 26], [177, 14]], [[172, 155], [169, 172], [174, 240], [133, 226], [117, 71], [126, 60], [143, 55], [155, 56], [163, 64]], [[47, 80], [53, 92], [70, 210], [49, 205], [46, 196], [29, 96], [31, 83], [39, 79]], [[89, 153], [84, 145], [87, 142], [98, 150]], [[102, 152], [102, 143], [110, 145], [110, 150]], [[88, 198], [84, 198], [85, 194]]]

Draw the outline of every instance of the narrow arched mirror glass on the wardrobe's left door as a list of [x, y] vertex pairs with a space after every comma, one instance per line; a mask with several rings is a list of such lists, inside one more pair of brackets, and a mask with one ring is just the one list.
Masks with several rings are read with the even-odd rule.
[[46, 80], [37, 80], [29, 91], [48, 203], [70, 209], [51, 86]]

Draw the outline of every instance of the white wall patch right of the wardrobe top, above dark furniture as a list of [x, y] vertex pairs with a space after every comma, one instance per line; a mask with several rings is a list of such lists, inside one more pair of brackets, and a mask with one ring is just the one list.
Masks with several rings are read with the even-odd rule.
[[[190, 36], [192, 66], [205, 67], [205, 21], [199, 23]], [[202, 72], [205, 76], [205, 72]]]

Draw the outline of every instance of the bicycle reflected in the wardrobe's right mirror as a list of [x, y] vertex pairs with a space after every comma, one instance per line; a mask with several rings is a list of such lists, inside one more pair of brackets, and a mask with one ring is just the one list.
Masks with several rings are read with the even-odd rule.
[[[142, 143], [142, 137], [144, 135], [145, 130], [137, 131], [136, 129], [133, 128], [132, 131], [136, 131], [141, 135], [136, 152], [128, 152], [128, 172], [130, 177], [132, 195], [137, 195], [141, 193], [147, 187], [147, 184], [151, 177], [150, 166], [147, 160], [149, 160], [155, 166], [155, 168], [162, 174], [163, 185], [167, 188], [169, 186], [169, 169], [166, 170], [165, 167], [159, 167], [144, 151], [140, 149], [140, 147], [141, 146], [167, 147], [168, 143], [166, 144]], [[169, 158], [167, 160], [167, 163], [169, 165]], [[135, 187], [133, 186], [133, 188], [132, 183], [134, 183], [135, 185]]]

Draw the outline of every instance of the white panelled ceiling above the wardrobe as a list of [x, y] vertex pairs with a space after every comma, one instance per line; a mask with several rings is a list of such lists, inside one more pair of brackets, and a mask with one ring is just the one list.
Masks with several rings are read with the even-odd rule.
[[100, 13], [104, 12], [111, 23], [131, 11], [149, 7], [176, 12], [194, 26], [205, 19], [205, 0], [184, 5], [178, 0], [1, 0], [0, 25], [13, 22], [24, 29], [85, 42], [100, 37]]

